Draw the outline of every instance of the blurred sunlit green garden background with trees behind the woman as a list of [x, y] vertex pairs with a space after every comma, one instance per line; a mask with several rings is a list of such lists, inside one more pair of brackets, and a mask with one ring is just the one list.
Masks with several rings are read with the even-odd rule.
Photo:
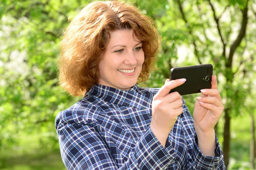
[[[62, 31], [90, 0], [0, 0], [0, 169], [65, 170], [55, 116], [81, 97], [58, 86]], [[230, 170], [255, 169], [256, 0], [131, 1], [163, 37], [157, 71], [211, 63], [225, 110], [215, 128]], [[186, 95], [193, 112], [196, 96]]]

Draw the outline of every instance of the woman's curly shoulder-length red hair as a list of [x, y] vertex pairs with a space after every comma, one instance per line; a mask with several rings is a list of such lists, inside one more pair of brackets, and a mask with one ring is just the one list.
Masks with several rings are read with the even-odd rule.
[[133, 5], [119, 1], [89, 3], [64, 30], [60, 43], [59, 84], [72, 96], [84, 95], [100, 77], [99, 62], [110, 40], [110, 32], [132, 29], [142, 41], [145, 54], [138, 82], [154, 70], [160, 35], [150, 17]]

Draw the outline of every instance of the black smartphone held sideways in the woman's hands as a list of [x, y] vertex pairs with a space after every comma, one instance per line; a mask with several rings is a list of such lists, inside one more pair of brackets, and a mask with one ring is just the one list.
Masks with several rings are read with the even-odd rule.
[[180, 95], [187, 95], [201, 93], [201, 89], [212, 88], [212, 70], [211, 64], [172, 68], [170, 80], [185, 78], [186, 82], [169, 93], [177, 91]]

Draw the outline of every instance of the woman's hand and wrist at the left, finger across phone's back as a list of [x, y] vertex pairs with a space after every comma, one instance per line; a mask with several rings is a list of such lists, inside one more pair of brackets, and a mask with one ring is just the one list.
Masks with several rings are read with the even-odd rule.
[[152, 101], [151, 130], [160, 143], [165, 146], [169, 132], [172, 130], [178, 116], [183, 113], [183, 101], [178, 92], [169, 91], [186, 82], [186, 79], [169, 81], [154, 95]]

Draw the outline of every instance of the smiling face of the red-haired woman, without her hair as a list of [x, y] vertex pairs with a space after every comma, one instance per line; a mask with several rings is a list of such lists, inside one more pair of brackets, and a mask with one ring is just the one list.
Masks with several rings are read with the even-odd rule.
[[142, 42], [135, 36], [134, 40], [132, 29], [114, 31], [110, 35], [99, 63], [99, 84], [129, 90], [137, 83], [144, 62]]

